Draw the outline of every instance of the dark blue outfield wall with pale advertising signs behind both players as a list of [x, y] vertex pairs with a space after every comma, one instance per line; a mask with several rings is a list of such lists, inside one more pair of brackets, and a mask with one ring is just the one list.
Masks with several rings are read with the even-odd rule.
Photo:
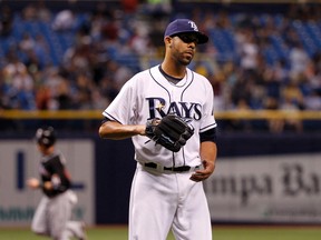
[[[321, 221], [320, 133], [218, 137], [217, 169], [205, 182], [213, 222]], [[76, 217], [89, 224], [127, 223], [132, 141], [101, 140], [96, 132], [61, 132], [60, 138], [79, 196]], [[30, 134], [0, 137], [0, 226], [31, 221], [40, 196], [23, 182], [37, 173], [33, 143]]]

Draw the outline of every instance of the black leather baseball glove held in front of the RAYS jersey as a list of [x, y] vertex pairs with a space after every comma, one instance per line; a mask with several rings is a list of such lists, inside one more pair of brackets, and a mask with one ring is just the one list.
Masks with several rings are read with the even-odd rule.
[[193, 133], [194, 128], [175, 114], [148, 120], [146, 124], [146, 136], [173, 152], [178, 152]]

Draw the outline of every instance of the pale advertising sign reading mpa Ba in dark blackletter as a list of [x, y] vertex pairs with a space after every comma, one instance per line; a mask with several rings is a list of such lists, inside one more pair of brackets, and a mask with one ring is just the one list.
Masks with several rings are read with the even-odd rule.
[[214, 221], [321, 222], [321, 154], [222, 158], [204, 182]]

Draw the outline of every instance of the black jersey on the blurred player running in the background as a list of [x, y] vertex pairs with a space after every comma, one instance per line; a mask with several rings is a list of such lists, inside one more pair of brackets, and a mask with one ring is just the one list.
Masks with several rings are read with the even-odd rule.
[[42, 188], [43, 193], [49, 198], [62, 193], [70, 188], [70, 177], [67, 173], [61, 154], [55, 153], [43, 157], [40, 164], [40, 176], [42, 183], [50, 181], [54, 186], [54, 189], [50, 190]]

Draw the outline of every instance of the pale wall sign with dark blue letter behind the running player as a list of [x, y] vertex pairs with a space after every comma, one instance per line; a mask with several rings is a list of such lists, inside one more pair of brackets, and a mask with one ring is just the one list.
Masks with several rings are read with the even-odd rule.
[[[91, 224], [95, 221], [94, 142], [59, 140], [56, 149], [67, 160], [72, 188], [78, 196], [74, 219]], [[29, 189], [26, 181], [30, 177], [39, 179], [40, 158], [32, 140], [0, 141], [0, 227], [31, 223], [41, 192]]]

